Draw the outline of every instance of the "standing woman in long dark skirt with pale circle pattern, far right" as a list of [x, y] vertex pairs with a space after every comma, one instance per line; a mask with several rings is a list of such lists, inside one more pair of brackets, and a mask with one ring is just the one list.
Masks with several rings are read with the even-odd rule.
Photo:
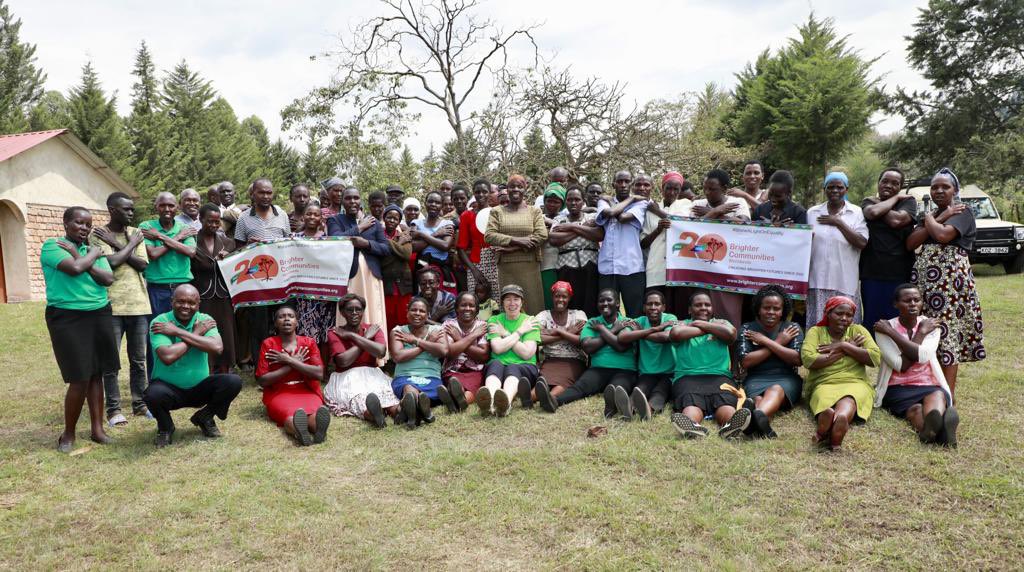
[[910, 279], [925, 297], [925, 315], [941, 324], [939, 362], [955, 396], [959, 363], [985, 359], [981, 303], [968, 260], [978, 230], [974, 213], [959, 202], [952, 171], [943, 168], [932, 177], [931, 196], [935, 210], [925, 213], [906, 248], [921, 248]]

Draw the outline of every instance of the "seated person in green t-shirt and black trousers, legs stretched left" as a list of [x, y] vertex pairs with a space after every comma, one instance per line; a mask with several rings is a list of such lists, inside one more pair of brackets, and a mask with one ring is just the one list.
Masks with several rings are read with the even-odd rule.
[[[597, 294], [599, 315], [587, 320], [580, 333], [580, 344], [590, 356], [590, 369], [558, 396], [558, 406], [604, 392], [604, 419], [617, 412], [632, 419], [629, 393], [637, 380], [637, 354], [633, 343], [623, 343], [618, 336], [629, 323], [618, 315], [618, 292], [604, 289]], [[542, 395], [538, 393], [538, 397]]]

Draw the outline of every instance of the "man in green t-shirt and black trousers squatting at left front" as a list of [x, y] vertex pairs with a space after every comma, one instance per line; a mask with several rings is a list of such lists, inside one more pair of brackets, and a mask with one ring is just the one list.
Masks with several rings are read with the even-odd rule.
[[203, 435], [220, 437], [214, 415], [227, 419], [227, 408], [242, 390], [242, 379], [233, 373], [210, 375], [209, 355], [223, 350], [217, 323], [199, 312], [199, 291], [191, 284], [174, 290], [171, 311], [153, 318], [150, 343], [156, 356], [153, 381], [142, 399], [157, 417], [157, 447], [171, 444], [174, 420], [171, 411], [201, 407], [191, 423]]

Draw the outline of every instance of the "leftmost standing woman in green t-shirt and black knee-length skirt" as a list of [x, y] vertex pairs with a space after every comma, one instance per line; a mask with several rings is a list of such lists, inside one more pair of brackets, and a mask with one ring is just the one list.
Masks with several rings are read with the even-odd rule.
[[119, 348], [111, 325], [106, 287], [114, 273], [99, 247], [89, 246], [92, 213], [71, 207], [63, 214], [65, 235], [43, 243], [40, 264], [46, 280], [46, 328], [65, 395], [65, 431], [57, 450], [71, 452], [82, 405], [89, 402], [90, 439], [110, 443], [103, 431], [102, 375], [121, 367]]

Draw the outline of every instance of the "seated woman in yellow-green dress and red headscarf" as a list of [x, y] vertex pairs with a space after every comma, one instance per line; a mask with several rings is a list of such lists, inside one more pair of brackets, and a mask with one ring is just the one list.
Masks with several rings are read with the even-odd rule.
[[807, 376], [811, 413], [817, 421], [812, 441], [834, 451], [854, 419], [866, 422], [871, 414], [874, 388], [867, 367], [878, 367], [879, 347], [867, 329], [853, 323], [857, 304], [845, 296], [825, 302], [821, 320], [807, 331], [800, 358]]

